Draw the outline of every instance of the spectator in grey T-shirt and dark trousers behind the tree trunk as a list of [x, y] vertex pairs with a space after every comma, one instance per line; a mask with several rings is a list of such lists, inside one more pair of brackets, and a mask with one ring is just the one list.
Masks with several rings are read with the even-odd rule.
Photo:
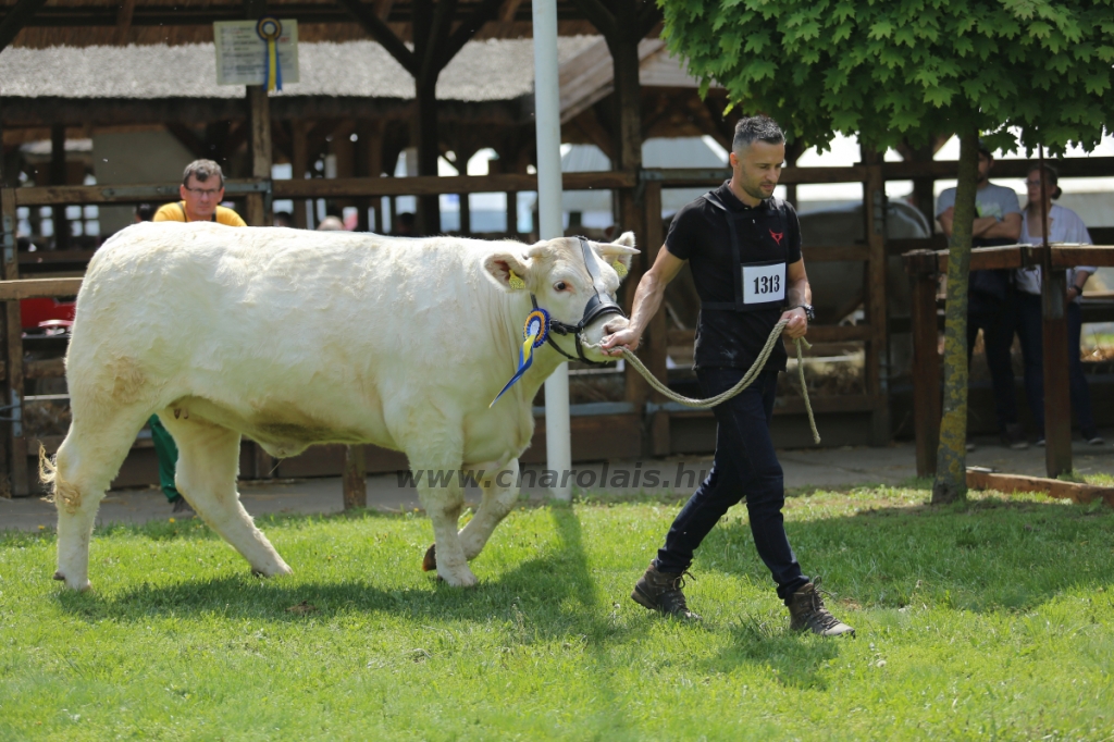
[[[975, 192], [977, 216], [971, 230], [971, 244], [975, 247], [1012, 245], [1022, 234], [1022, 209], [1017, 207], [1017, 194], [1012, 188], [990, 183], [993, 166], [994, 156], [980, 140], [978, 189]], [[936, 204], [936, 218], [948, 238], [951, 237], [955, 204], [955, 188], [941, 192]], [[1025, 430], [1017, 422], [1014, 369], [1009, 360], [1009, 348], [1014, 343], [1013, 294], [1009, 271], [971, 271], [967, 295], [967, 364], [970, 365], [975, 340], [981, 330], [1001, 442], [1013, 449], [1025, 449], [1029, 445], [1025, 439]], [[968, 450], [970, 449], [968, 446]]]

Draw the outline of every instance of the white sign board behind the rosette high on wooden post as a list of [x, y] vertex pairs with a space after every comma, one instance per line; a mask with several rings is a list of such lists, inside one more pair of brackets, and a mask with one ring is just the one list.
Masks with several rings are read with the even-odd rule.
[[[255, 21], [216, 21], [217, 85], [263, 85], [267, 74], [267, 43], [260, 38]], [[297, 82], [297, 21], [282, 21], [277, 41], [282, 81]]]

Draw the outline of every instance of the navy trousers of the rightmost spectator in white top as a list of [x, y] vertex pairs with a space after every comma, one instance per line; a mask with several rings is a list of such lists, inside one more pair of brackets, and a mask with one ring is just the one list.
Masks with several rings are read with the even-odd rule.
[[[1017, 294], [1017, 335], [1022, 340], [1022, 355], [1025, 358], [1025, 396], [1029, 411], [1037, 424], [1037, 436], [1044, 438], [1044, 336], [1040, 313], [1040, 297], [1036, 294]], [[1067, 305], [1067, 379], [1072, 392], [1072, 407], [1084, 438], [1097, 435], [1095, 418], [1091, 411], [1091, 389], [1083, 373], [1079, 359], [1079, 335], [1083, 333], [1083, 315], [1079, 305]]]

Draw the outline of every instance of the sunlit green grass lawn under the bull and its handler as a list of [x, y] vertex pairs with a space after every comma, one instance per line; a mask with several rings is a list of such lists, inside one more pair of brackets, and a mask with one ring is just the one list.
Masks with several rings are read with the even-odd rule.
[[698, 626], [628, 598], [663, 501], [516, 510], [471, 590], [419, 570], [416, 514], [264, 519], [276, 580], [196, 523], [114, 527], [84, 595], [49, 531], [0, 534], [0, 739], [1112, 739], [1114, 509], [910, 485], [789, 501], [841, 641], [786, 631], [742, 508]]

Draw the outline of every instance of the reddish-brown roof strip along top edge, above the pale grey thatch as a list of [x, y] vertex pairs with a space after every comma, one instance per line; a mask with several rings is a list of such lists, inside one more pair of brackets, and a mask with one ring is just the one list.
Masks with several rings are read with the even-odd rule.
[[[0, 0], [0, 21], [18, 0]], [[16, 47], [106, 45], [188, 45], [213, 41], [213, 21], [244, 18], [243, 0], [135, 0], [130, 17], [127, 0], [48, 0], [16, 37]], [[411, 39], [410, 0], [365, 0], [403, 40]], [[470, 17], [479, 0], [460, 0], [457, 21]], [[267, 11], [299, 22], [302, 41], [352, 41], [368, 33], [335, 0], [267, 0]], [[561, 36], [596, 33], [573, 0], [557, 2]], [[506, 0], [478, 31], [476, 39], [518, 39], [532, 36], [530, 2]]]

